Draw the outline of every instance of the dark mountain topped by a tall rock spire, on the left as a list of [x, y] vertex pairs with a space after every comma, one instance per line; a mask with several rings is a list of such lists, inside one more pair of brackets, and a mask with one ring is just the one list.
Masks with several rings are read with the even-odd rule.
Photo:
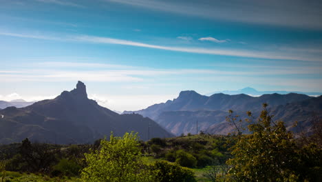
[[[173, 136], [155, 121], [139, 114], [117, 114], [87, 98], [85, 84], [78, 81], [70, 92], [25, 108], [0, 110], [0, 143], [19, 142], [28, 137], [49, 143], [91, 143], [125, 132], [139, 132], [140, 139]], [[150, 127], [149, 127], [150, 126]], [[148, 129], [149, 127], [149, 129]], [[148, 130], [149, 136], [148, 136]]]

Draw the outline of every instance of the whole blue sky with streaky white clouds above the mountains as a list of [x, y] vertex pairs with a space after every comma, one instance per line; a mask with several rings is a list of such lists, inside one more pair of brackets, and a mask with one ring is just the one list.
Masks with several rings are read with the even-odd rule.
[[0, 100], [87, 85], [112, 110], [237, 90], [322, 91], [321, 1], [0, 0]]

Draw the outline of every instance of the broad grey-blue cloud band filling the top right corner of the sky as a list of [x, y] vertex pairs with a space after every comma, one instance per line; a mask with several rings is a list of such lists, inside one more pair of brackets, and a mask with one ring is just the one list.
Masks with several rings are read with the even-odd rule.
[[301, 0], [230, 0], [230, 1], [155, 1], [105, 0], [151, 10], [185, 14], [207, 19], [224, 19], [246, 23], [322, 29], [319, 1]]

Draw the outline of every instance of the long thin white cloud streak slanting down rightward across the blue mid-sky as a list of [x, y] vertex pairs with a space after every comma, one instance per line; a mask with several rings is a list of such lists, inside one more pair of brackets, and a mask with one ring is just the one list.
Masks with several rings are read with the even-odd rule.
[[174, 46], [164, 46], [164, 45], [153, 45], [148, 43], [141, 43], [136, 41], [127, 41], [123, 39], [114, 39], [109, 37], [96, 37], [96, 36], [69, 36], [65, 38], [61, 37], [47, 37], [42, 35], [34, 34], [17, 34], [0, 32], [0, 35], [10, 36], [10, 37], [21, 37], [30, 39], [46, 39], [53, 41], [78, 41], [83, 43], [106, 43], [106, 44], [116, 44], [116, 45], [128, 45], [141, 48], [151, 48], [158, 50], [169, 50], [175, 52], [188, 52], [196, 54], [213, 54], [221, 56], [230, 57], [249, 57], [249, 58], [259, 58], [259, 59], [281, 59], [281, 60], [299, 60], [299, 61], [322, 61], [321, 57], [301, 57], [284, 55], [279, 52], [265, 52], [265, 51], [249, 51], [249, 50], [228, 50], [228, 49], [217, 49], [217, 48], [187, 48], [187, 47], [174, 47]]

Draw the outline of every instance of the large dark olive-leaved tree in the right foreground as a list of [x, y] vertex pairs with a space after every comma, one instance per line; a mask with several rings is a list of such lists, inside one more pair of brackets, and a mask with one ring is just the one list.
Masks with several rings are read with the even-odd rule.
[[[316, 173], [314, 170], [321, 172], [321, 158], [318, 163], [312, 163], [316, 160], [312, 158], [321, 157], [322, 151], [316, 147], [298, 148], [292, 132], [286, 130], [282, 121], [272, 121], [266, 107], [264, 104], [257, 121], [248, 120], [251, 134], [242, 135], [238, 130], [237, 143], [231, 148], [233, 159], [227, 161], [233, 166], [227, 180], [305, 181], [310, 179], [310, 168], [313, 174]], [[252, 117], [251, 112], [248, 115]], [[301, 156], [311, 159], [301, 159]]]

